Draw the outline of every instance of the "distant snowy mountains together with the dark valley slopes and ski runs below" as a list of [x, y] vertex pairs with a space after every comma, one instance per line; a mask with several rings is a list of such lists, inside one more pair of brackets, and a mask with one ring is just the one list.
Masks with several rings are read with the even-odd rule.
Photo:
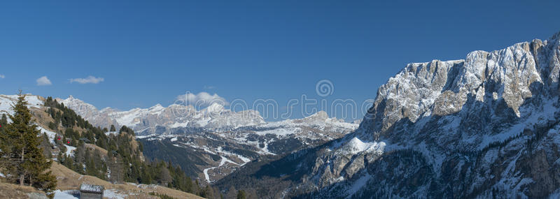
[[118, 111], [97, 110], [70, 96], [57, 98], [96, 126], [128, 126], [144, 143], [148, 158], [172, 159], [211, 183], [256, 159], [283, 156], [341, 138], [358, 124], [316, 112], [302, 119], [265, 122], [255, 110], [234, 112], [213, 103], [202, 110], [192, 105], [155, 105]]

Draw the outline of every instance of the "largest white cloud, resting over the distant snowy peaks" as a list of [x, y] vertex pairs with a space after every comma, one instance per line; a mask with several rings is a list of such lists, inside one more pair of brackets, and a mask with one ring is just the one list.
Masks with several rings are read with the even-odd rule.
[[177, 96], [176, 104], [193, 105], [195, 108], [205, 108], [213, 103], [220, 105], [230, 105], [225, 98], [218, 96], [218, 94], [211, 95], [207, 92], [200, 92], [198, 94], [191, 94], [187, 92], [184, 95]]

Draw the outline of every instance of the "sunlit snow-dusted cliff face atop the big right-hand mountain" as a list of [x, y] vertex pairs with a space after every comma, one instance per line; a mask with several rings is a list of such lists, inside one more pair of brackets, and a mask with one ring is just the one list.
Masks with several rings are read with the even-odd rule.
[[[377, 91], [363, 128], [384, 132], [395, 122], [451, 115], [463, 106], [503, 100], [517, 117], [533, 94], [558, 91], [558, 40], [533, 40], [504, 50], [470, 52], [457, 61], [408, 64]], [[472, 98], [470, 104], [468, 99]]]

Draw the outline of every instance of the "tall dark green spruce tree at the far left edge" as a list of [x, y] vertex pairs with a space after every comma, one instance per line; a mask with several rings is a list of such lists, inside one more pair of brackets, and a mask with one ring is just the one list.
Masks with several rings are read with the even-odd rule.
[[12, 123], [6, 124], [0, 139], [3, 166], [8, 176], [17, 177], [12, 179], [14, 182], [34, 186], [52, 198], [57, 182], [56, 177], [47, 171], [52, 161], [43, 156], [43, 149], [39, 147], [41, 131], [33, 124], [25, 95], [20, 92], [18, 102], [12, 108], [14, 114], [9, 116]]

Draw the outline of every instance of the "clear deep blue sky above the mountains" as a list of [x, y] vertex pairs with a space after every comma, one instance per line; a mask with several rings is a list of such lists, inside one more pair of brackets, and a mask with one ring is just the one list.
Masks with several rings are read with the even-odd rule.
[[[3, 1], [0, 93], [128, 110], [186, 91], [227, 101], [374, 98], [409, 62], [560, 31], [559, 1]], [[100, 79], [80, 84], [71, 79]], [[47, 76], [50, 85], [36, 80]], [[316, 95], [319, 80], [332, 95]], [[293, 117], [301, 117], [299, 112]], [[358, 116], [360, 117], [360, 116]]]

